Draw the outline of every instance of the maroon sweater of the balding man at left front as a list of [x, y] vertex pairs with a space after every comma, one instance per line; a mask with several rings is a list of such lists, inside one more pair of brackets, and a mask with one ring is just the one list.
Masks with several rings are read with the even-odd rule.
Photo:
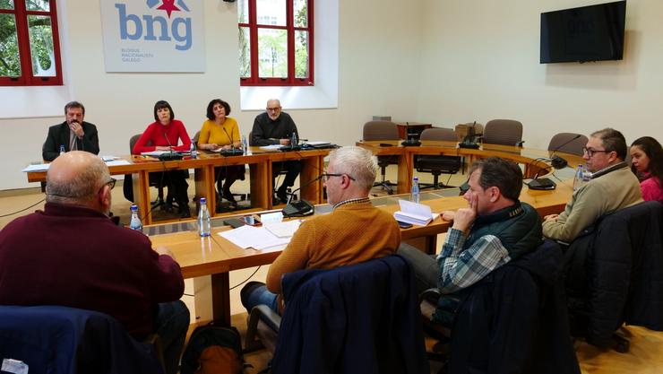
[[134, 337], [152, 333], [159, 302], [184, 293], [177, 262], [102, 213], [53, 203], [44, 209], [0, 231], [0, 304], [97, 310]]

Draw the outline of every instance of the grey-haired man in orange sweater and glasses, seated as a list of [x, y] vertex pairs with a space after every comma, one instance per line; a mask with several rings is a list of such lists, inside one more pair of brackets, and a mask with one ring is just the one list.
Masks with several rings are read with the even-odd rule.
[[241, 296], [246, 310], [265, 304], [278, 311], [283, 274], [353, 265], [396, 253], [400, 245], [398, 223], [368, 200], [376, 170], [375, 157], [363, 148], [342, 147], [330, 153], [323, 178], [332, 213], [301, 224], [288, 247], [271, 264], [266, 285], [245, 285]]

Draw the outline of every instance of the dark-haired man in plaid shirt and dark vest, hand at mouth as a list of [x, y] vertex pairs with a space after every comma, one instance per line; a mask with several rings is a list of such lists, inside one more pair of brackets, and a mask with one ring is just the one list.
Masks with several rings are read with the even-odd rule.
[[521, 168], [512, 161], [489, 157], [469, 170], [469, 207], [443, 212], [453, 221], [442, 252], [429, 257], [401, 244], [399, 255], [409, 260], [418, 291], [435, 285], [443, 293], [459, 291], [542, 242], [541, 220], [530, 204], [521, 203]]

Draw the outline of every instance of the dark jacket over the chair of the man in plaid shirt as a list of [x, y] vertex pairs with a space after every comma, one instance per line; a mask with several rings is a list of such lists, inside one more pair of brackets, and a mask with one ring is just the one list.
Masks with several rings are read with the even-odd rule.
[[580, 374], [569, 335], [562, 249], [546, 240], [457, 292], [450, 374]]

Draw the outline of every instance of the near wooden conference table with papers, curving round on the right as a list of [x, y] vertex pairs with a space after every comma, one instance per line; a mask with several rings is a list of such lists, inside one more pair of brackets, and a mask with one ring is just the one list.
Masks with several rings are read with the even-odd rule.
[[[398, 147], [393, 147], [398, 148]], [[389, 150], [388, 152], [393, 152]], [[404, 159], [411, 158], [412, 154], [424, 151], [424, 148], [415, 150], [408, 148], [400, 150]], [[544, 168], [544, 164], [539, 164], [535, 159], [525, 156], [524, 152], [498, 152], [495, 150], [471, 150], [465, 154], [476, 157], [487, 157], [488, 155], [498, 155], [504, 158], [523, 161], [529, 165], [537, 165], [537, 168]], [[433, 152], [427, 150], [425, 152]], [[435, 150], [435, 152], [446, 152], [446, 150]], [[546, 152], [534, 152], [538, 154], [547, 154]], [[539, 157], [539, 156], [537, 156]], [[542, 156], [541, 156], [542, 157]], [[565, 156], [564, 156], [565, 157]], [[581, 161], [578, 156], [568, 155], [565, 157], [569, 161], [569, 168], [557, 170], [555, 175], [563, 179], [558, 181], [557, 187], [552, 191], [535, 191], [524, 186], [521, 192], [521, 201], [534, 206], [540, 215], [551, 213], [560, 213], [564, 210], [564, 205], [573, 193], [573, 168]], [[407, 162], [406, 162], [407, 163]], [[411, 163], [409, 163], [411, 165]], [[423, 193], [421, 203], [431, 206], [434, 212], [443, 210], [455, 210], [467, 206], [467, 202], [458, 196], [458, 188], [438, 190]], [[399, 196], [386, 196], [372, 199], [372, 203], [389, 213], [398, 210]], [[402, 196], [401, 196], [402, 197]], [[406, 197], [407, 198], [407, 197]], [[328, 212], [328, 204], [319, 205], [316, 211]], [[208, 238], [200, 238], [195, 231], [193, 222], [177, 222], [171, 224], [154, 225], [146, 227], [146, 233], [150, 235], [152, 243], [155, 246], [165, 245], [170, 248], [177, 262], [182, 267], [182, 273], [185, 278], [194, 278], [195, 283], [195, 305], [196, 314], [201, 320], [214, 319], [220, 323], [230, 323], [230, 296], [228, 272], [247, 267], [271, 264], [279, 256], [280, 250], [255, 250], [252, 248], [238, 248], [218, 235], [222, 230], [230, 230], [228, 226], [222, 226], [221, 219], [212, 220], [212, 235]], [[450, 222], [445, 222], [441, 218], [435, 219], [427, 226], [415, 226], [407, 230], [401, 230], [401, 236], [404, 241], [409, 241], [419, 248], [426, 251], [435, 249], [436, 236], [445, 232], [449, 228]]]

